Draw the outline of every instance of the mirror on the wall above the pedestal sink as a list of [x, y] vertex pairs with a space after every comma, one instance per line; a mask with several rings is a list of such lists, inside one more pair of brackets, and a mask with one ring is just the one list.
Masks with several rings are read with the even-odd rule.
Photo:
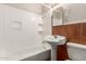
[[52, 11], [52, 26], [58, 26], [63, 24], [63, 9], [62, 7]]

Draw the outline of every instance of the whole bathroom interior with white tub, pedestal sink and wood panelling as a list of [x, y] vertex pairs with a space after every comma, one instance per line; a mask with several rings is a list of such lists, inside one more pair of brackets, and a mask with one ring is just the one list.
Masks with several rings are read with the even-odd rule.
[[86, 3], [0, 3], [0, 61], [86, 61], [85, 13]]

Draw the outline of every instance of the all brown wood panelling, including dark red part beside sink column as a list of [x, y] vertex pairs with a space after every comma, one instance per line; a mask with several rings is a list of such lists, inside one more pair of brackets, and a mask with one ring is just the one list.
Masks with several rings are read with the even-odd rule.
[[[52, 35], [65, 36], [67, 41], [86, 44], [86, 23], [53, 26]], [[69, 59], [64, 44], [58, 48], [59, 61]]]

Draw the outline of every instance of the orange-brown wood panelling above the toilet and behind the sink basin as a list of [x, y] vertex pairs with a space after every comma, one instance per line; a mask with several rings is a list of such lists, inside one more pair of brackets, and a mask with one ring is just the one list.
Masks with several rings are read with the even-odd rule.
[[52, 35], [65, 36], [71, 42], [86, 44], [86, 23], [54, 26]]

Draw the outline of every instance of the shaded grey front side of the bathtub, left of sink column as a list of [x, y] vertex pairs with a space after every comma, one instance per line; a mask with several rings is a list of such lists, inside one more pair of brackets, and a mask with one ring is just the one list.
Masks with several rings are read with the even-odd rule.
[[36, 55], [32, 55], [32, 56], [23, 59], [21, 61], [46, 61], [48, 59], [50, 59], [50, 50], [40, 52]]

